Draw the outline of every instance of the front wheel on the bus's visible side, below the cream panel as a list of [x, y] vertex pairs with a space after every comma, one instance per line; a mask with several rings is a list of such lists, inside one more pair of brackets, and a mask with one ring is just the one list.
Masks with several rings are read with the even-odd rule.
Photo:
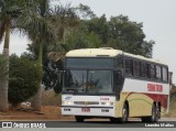
[[129, 108], [128, 105], [123, 105], [123, 110], [122, 110], [122, 118], [120, 118], [120, 122], [127, 122], [129, 120]]

